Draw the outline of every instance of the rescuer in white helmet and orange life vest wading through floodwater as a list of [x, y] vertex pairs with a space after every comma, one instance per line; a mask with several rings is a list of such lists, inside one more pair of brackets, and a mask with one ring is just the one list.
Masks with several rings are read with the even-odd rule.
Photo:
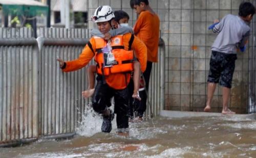
[[[112, 28], [114, 13], [110, 6], [100, 6], [95, 10], [92, 20], [97, 23], [102, 34]], [[127, 85], [133, 70], [133, 50], [141, 65], [141, 71], [146, 69], [146, 46], [131, 33], [117, 35], [106, 41], [93, 36], [83, 48], [78, 59], [64, 62], [57, 59], [62, 71], [69, 72], [86, 66], [91, 59], [97, 63], [97, 84], [92, 98], [94, 111], [102, 114], [101, 131], [110, 133], [114, 113], [108, 108], [110, 98], [114, 97], [116, 122], [119, 135], [129, 134], [128, 90]]]

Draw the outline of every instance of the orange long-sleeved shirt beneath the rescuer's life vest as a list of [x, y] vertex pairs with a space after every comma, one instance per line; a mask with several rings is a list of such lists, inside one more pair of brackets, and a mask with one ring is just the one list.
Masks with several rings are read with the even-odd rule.
[[[127, 33], [123, 35], [123, 45], [124, 45], [124, 49], [126, 50], [128, 50], [129, 48], [129, 41], [131, 39], [131, 36], [132, 36], [131, 33]], [[73, 61], [66, 62], [66, 67], [62, 69], [62, 71], [64, 72], [75, 71], [86, 66], [95, 56], [95, 52], [96, 52], [95, 39], [91, 38], [90, 43], [92, 45], [93, 50], [87, 44], [83, 48], [79, 58]], [[145, 44], [141, 40], [139, 40], [137, 37], [134, 37], [134, 41], [131, 48], [135, 50], [136, 57], [138, 58], [141, 65], [141, 71], [144, 72], [146, 69], [146, 59], [147, 59]], [[130, 82], [130, 78], [131, 78], [131, 74], [124, 74], [124, 73], [114, 73], [114, 74], [105, 76], [106, 83], [108, 83], [108, 85], [114, 89], [126, 88], [127, 84]]]

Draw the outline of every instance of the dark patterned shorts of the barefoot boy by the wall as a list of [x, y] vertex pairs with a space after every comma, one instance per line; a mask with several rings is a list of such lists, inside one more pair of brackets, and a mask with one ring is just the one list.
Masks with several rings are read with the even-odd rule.
[[221, 86], [231, 88], [236, 54], [225, 54], [212, 50], [208, 82], [220, 83]]

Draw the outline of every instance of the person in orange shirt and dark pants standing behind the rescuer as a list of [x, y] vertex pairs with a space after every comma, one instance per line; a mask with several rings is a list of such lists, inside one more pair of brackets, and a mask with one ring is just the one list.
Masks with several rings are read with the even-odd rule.
[[130, 5], [139, 17], [134, 25], [134, 34], [142, 40], [147, 47], [147, 64], [146, 70], [143, 72], [145, 80], [145, 91], [140, 92], [141, 101], [136, 100], [138, 119], [142, 120], [143, 113], [146, 110], [146, 99], [148, 84], [150, 82], [150, 74], [152, 63], [157, 62], [158, 59], [158, 42], [159, 42], [159, 25], [160, 20], [157, 14], [150, 7], [148, 0], [131, 0]]

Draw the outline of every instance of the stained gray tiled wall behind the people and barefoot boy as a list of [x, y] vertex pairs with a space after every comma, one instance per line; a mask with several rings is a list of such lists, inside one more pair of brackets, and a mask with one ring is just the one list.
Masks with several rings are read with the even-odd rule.
[[[202, 111], [206, 103], [210, 46], [216, 35], [207, 30], [214, 19], [238, 14], [240, 0], [151, 0], [161, 20], [161, 38], [166, 43], [165, 110]], [[137, 15], [129, 0], [89, 1], [89, 18], [100, 5], [122, 9], [133, 25]], [[90, 21], [89, 29], [96, 27]], [[248, 51], [248, 50], [247, 50]], [[238, 52], [233, 75], [230, 108], [245, 113], [248, 104], [248, 52]], [[212, 110], [222, 110], [222, 90], [217, 87]]]

